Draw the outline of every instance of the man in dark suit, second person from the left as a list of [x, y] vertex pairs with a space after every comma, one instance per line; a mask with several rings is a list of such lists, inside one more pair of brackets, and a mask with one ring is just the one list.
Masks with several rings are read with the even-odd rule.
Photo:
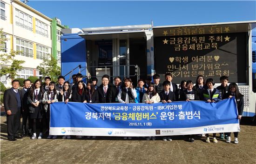
[[[31, 81], [29, 79], [23, 81], [23, 88], [21, 90], [21, 95], [22, 95], [22, 101], [23, 101], [23, 112], [22, 112], [22, 136], [21, 137], [26, 137], [27, 133], [27, 118], [28, 118], [28, 106], [27, 106], [27, 96], [28, 96], [28, 91], [30, 87]], [[30, 121], [28, 120], [28, 131], [31, 133], [31, 125]], [[29, 134], [31, 135], [31, 134]]]

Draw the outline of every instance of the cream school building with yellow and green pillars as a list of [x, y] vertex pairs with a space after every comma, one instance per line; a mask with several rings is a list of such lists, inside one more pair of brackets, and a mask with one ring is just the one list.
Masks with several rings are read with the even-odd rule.
[[[51, 54], [61, 64], [61, 29], [65, 28], [61, 20], [51, 19], [20, 0], [0, 0], [0, 28], [7, 38], [0, 53], [21, 51], [15, 59], [25, 61], [16, 78], [42, 77], [36, 67]], [[6, 75], [0, 81], [11, 86]]]

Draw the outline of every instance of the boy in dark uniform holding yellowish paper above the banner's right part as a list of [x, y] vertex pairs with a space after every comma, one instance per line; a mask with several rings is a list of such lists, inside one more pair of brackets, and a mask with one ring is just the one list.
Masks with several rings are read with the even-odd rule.
[[[212, 78], [209, 78], [206, 80], [206, 85], [208, 88], [203, 91], [203, 95], [202, 95], [203, 101], [206, 101], [208, 103], [214, 103], [222, 100], [220, 91], [213, 88], [213, 86], [215, 85], [215, 82]], [[209, 134], [206, 134], [205, 142], [207, 143], [210, 142]], [[217, 143], [217, 142], [218, 141], [216, 139], [216, 133], [213, 133], [213, 143]]]

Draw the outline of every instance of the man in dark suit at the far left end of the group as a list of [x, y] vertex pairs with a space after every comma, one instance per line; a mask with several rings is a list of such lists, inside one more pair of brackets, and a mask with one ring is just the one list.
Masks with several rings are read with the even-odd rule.
[[12, 81], [12, 88], [4, 92], [4, 106], [7, 113], [7, 134], [9, 141], [16, 141], [17, 132], [20, 129], [20, 115], [22, 110], [22, 95], [18, 90], [19, 80]]

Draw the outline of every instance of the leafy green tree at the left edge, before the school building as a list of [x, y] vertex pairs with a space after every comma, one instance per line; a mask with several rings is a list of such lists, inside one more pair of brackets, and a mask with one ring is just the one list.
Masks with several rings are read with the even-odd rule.
[[[5, 42], [8, 40], [3, 35], [3, 29], [0, 29], [0, 51], [5, 52]], [[14, 79], [17, 75], [17, 72], [20, 71], [23, 67], [21, 66], [25, 63], [24, 60], [14, 59], [15, 55], [19, 54], [19, 51], [11, 50], [10, 53], [1, 53], [0, 54], [0, 76], [7, 75], [7, 79]]]

